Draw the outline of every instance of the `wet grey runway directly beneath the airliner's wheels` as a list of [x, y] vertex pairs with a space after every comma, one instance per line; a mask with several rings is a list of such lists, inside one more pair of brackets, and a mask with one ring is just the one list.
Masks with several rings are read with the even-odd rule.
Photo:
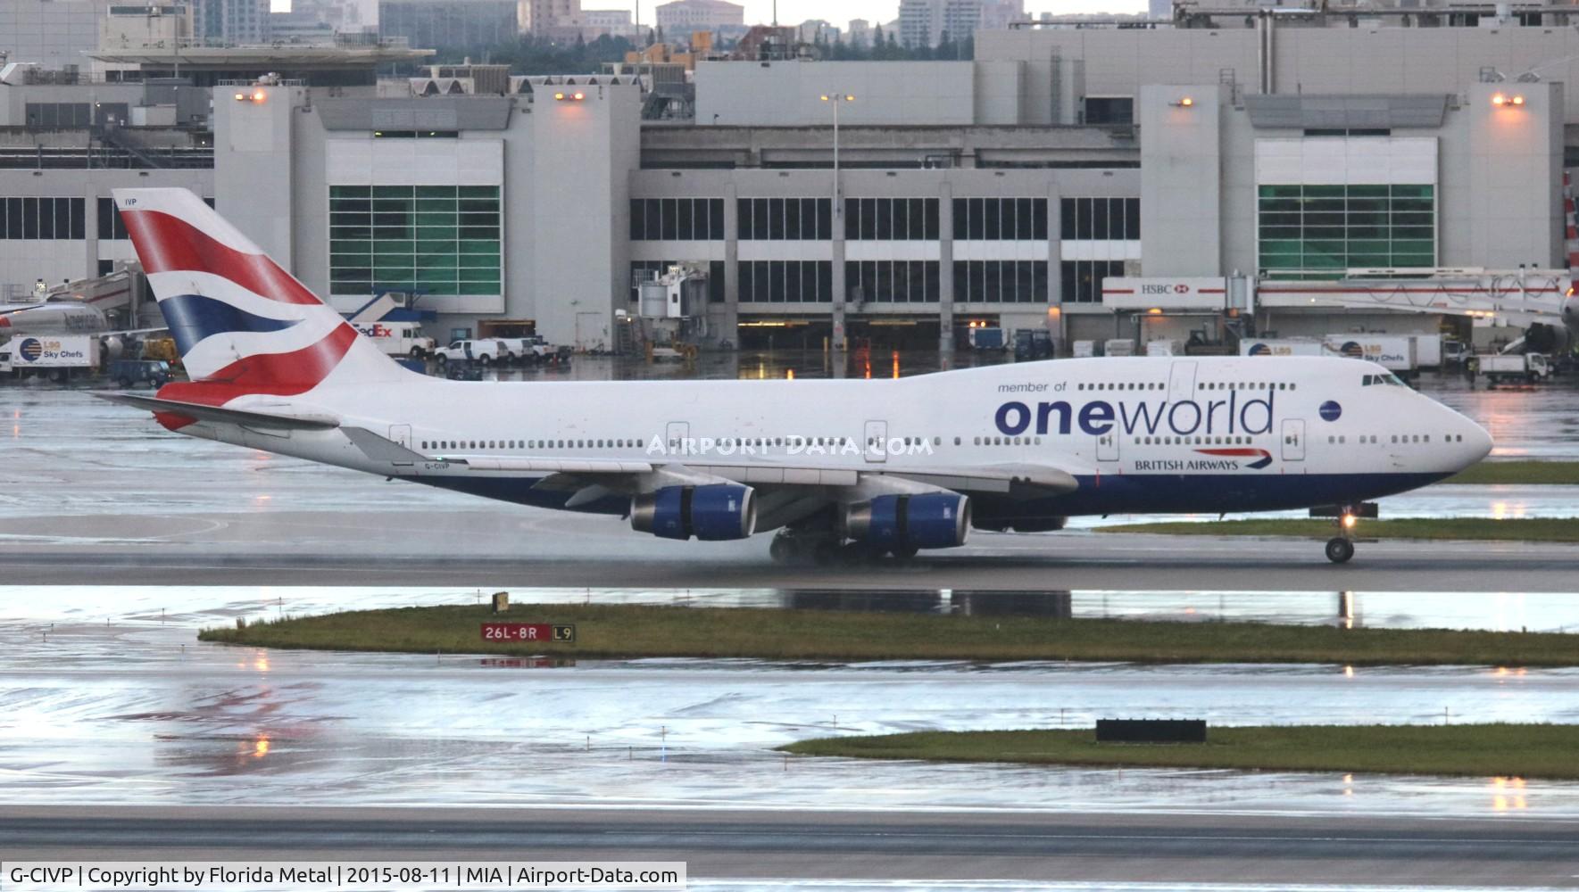
[[1579, 545], [1361, 540], [1353, 562], [1333, 565], [1318, 540], [1080, 532], [984, 534], [965, 548], [880, 567], [778, 567], [759, 540], [673, 543], [606, 518], [543, 512], [507, 523], [489, 513], [188, 519], [201, 524], [196, 534], [120, 518], [122, 530], [152, 535], [0, 546], [0, 575], [35, 586], [1571, 592], [1579, 567]]

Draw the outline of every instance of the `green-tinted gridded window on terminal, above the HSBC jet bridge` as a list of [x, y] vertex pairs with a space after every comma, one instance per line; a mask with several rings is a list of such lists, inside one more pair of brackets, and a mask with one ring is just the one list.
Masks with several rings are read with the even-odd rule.
[[1432, 185], [1262, 185], [1255, 212], [1258, 265], [1273, 278], [1437, 265]]

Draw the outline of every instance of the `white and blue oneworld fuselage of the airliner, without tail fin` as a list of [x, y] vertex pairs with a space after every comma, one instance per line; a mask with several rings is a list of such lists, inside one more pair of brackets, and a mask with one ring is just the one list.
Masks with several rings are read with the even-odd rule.
[[[232, 407], [338, 417], [431, 461], [406, 477], [548, 504], [512, 459], [772, 469], [1055, 466], [1080, 491], [1025, 510], [1249, 512], [1350, 504], [1483, 458], [1484, 429], [1348, 358], [1198, 357], [1017, 363], [889, 380], [324, 385]], [[387, 474], [335, 431], [183, 433]], [[216, 436], [218, 433], [218, 436]], [[464, 459], [464, 464], [455, 459]], [[489, 483], [497, 489], [489, 489]], [[613, 502], [598, 508], [613, 510]], [[1014, 512], [1014, 505], [985, 510]]]

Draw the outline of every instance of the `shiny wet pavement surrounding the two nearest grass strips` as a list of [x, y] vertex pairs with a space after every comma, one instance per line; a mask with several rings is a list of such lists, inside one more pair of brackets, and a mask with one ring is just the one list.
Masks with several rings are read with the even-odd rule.
[[[548, 668], [461, 654], [218, 647], [193, 636], [270, 606], [453, 603], [456, 594], [3, 590], [0, 799], [1579, 815], [1579, 785], [1513, 778], [873, 764], [771, 751], [812, 736], [1090, 726], [1105, 715], [1571, 723], [1579, 669], [756, 660]], [[515, 592], [529, 595], [540, 592]], [[706, 592], [630, 600], [658, 597], [707, 603]], [[1309, 611], [1325, 622], [1315, 614], [1333, 598], [1247, 598], [1246, 609]], [[1401, 624], [1484, 620], [1484, 608], [1371, 598], [1361, 597], [1366, 616], [1380, 609]], [[1104, 600], [1113, 614], [1145, 613], [1142, 595], [1121, 592], [1072, 595], [1071, 608], [1094, 611]], [[1225, 602], [1219, 609], [1228, 614]]]

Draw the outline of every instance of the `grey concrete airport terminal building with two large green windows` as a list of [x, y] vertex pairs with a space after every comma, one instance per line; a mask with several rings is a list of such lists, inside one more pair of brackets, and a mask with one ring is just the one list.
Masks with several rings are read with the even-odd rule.
[[[984, 32], [976, 62], [704, 62], [692, 120], [644, 120], [624, 76], [13, 77], [0, 286], [129, 257], [107, 196], [145, 185], [212, 197], [344, 311], [418, 295], [441, 339], [628, 347], [633, 283], [677, 264], [706, 278], [688, 311], [704, 343], [816, 347], [1203, 325], [1187, 300], [1104, 302], [1120, 276], [1194, 298], [1355, 268], [1566, 267], [1579, 33], [1440, 19], [1252, 13]], [[1383, 327], [1331, 316], [1276, 325]]]

